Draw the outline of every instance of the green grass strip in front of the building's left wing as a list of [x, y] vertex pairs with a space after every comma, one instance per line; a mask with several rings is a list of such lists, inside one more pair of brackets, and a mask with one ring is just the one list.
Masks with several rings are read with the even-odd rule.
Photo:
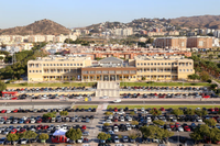
[[42, 82], [42, 83], [7, 83], [7, 87], [91, 87], [96, 82]]

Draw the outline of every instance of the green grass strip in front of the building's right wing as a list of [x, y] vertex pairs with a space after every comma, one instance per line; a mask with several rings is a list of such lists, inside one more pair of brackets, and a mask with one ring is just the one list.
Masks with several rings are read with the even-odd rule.
[[[120, 83], [121, 87], [123, 86], [131, 86], [131, 87], [134, 87], [134, 86], [151, 86], [151, 87], [183, 87], [183, 82], [152, 82], [152, 83], [147, 83], [147, 82], [121, 82]], [[186, 86], [204, 86], [204, 87], [209, 87], [210, 83], [208, 82], [184, 82], [184, 87]]]

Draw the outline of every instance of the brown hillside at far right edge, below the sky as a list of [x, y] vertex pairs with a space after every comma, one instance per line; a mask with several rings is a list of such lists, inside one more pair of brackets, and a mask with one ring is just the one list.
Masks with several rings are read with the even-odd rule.
[[182, 16], [170, 19], [173, 25], [201, 29], [220, 29], [220, 15]]

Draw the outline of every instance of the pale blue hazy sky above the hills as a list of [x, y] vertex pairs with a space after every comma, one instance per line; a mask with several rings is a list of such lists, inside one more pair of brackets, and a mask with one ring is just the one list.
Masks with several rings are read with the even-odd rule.
[[42, 19], [67, 27], [140, 18], [220, 14], [220, 0], [0, 0], [0, 29]]

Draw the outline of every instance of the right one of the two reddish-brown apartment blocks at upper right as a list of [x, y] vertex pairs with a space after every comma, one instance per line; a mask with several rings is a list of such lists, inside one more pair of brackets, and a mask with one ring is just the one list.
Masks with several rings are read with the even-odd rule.
[[187, 47], [212, 48], [212, 37], [193, 36], [187, 38]]

